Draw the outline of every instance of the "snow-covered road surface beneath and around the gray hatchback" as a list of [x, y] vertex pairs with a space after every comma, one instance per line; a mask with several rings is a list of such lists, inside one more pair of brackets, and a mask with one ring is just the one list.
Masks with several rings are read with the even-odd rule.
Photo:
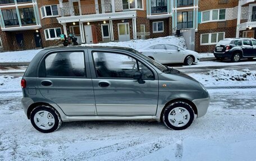
[[255, 160], [256, 89], [209, 90], [208, 113], [183, 131], [158, 122], [63, 123], [36, 131], [21, 93], [0, 94], [0, 160]]

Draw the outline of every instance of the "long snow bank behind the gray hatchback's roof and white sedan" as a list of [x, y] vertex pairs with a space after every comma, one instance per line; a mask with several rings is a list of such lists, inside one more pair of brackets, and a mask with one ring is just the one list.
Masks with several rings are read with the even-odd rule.
[[151, 44], [159, 44], [159, 43], [166, 43], [166, 44], [174, 44], [181, 48], [186, 49], [186, 42], [183, 37], [177, 38], [176, 36], [166, 36], [161, 38], [154, 38], [154, 39], [147, 39], [147, 40], [130, 40], [128, 42], [109, 42], [109, 43], [98, 43], [98, 44], [82, 44], [81, 46], [86, 45], [100, 45], [100, 46], [115, 46], [115, 47], [128, 47], [135, 50], [142, 49], [147, 47]]

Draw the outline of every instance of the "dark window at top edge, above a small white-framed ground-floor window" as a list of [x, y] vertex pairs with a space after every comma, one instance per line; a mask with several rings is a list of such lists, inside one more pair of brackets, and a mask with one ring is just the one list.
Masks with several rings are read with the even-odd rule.
[[167, 0], [151, 0], [151, 13], [166, 13]]

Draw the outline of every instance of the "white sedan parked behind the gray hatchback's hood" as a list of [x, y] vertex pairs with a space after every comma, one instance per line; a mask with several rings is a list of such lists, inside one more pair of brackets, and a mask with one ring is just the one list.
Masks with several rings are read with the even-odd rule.
[[184, 63], [190, 66], [199, 62], [200, 59], [198, 53], [173, 44], [154, 44], [139, 50], [139, 52], [161, 64]]

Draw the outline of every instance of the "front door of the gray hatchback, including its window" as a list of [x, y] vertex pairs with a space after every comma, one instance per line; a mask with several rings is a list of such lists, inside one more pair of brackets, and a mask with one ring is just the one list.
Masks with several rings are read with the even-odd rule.
[[[89, 52], [99, 116], [156, 115], [158, 76], [153, 68], [129, 53], [106, 50]], [[144, 83], [133, 79], [138, 70], [143, 73]]]

